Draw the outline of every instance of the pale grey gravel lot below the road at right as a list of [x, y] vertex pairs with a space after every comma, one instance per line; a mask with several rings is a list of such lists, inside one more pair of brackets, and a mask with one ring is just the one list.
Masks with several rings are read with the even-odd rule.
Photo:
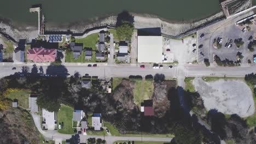
[[251, 116], [255, 111], [251, 89], [242, 80], [219, 79], [205, 82], [201, 77], [196, 77], [193, 85], [202, 96], [207, 110], [217, 109], [222, 113], [236, 113], [241, 117]]

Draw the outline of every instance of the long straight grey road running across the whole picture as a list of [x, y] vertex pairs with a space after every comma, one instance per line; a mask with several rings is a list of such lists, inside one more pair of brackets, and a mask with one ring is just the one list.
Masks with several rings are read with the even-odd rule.
[[[16, 67], [16, 70], [11, 70]], [[31, 65], [28, 65], [32, 69]], [[39, 66], [38, 66], [39, 68]], [[48, 68], [47, 65], [42, 66], [45, 73]], [[14, 74], [15, 72], [21, 72], [21, 64], [7, 64], [0, 65], [0, 77]], [[87, 66], [66, 66], [68, 73], [74, 75], [79, 73], [80, 75], [89, 74], [91, 76], [104, 77], [129, 77], [130, 75], [155, 75], [164, 74], [166, 77], [200, 77], [200, 76], [234, 76], [243, 77], [249, 73], [256, 72], [256, 65], [251, 67], [205, 67], [203, 65], [184, 65], [182, 67], [173, 67], [168, 69], [168, 65], [164, 65], [163, 69], [152, 69], [152, 66], [147, 66], [144, 69], [135, 65], [106, 65], [98, 67]], [[56, 67], [54, 69], [56, 73], [62, 73], [63, 69]]]

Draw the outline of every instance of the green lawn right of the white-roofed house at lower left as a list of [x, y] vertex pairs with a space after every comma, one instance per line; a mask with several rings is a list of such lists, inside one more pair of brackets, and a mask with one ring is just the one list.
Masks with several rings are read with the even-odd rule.
[[64, 123], [63, 128], [59, 129], [58, 132], [62, 134], [73, 134], [74, 129], [72, 128], [72, 118], [74, 109], [67, 105], [61, 105], [60, 110], [57, 112], [57, 125]]

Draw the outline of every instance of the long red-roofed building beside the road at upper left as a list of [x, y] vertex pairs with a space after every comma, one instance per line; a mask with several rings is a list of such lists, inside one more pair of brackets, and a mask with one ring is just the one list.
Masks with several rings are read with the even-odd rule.
[[32, 60], [33, 62], [53, 62], [56, 59], [56, 49], [28, 49], [27, 59]]

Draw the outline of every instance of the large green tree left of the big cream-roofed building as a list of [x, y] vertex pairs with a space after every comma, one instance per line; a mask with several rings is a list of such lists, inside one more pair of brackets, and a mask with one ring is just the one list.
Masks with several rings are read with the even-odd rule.
[[117, 37], [119, 40], [130, 40], [133, 33], [134, 25], [133, 23], [129, 23], [124, 21], [122, 25], [116, 28]]

